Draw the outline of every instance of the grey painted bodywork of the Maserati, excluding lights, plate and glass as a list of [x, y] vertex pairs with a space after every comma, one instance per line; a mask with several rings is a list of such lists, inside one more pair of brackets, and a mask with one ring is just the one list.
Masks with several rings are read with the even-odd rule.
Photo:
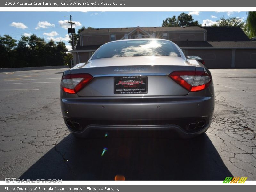
[[[136, 39], [138, 40], [138, 39]], [[213, 81], [205, 90], [188, 92], [175, 83], [168, 75], [172, 71], [205, 70], [210, 71], [196, 60], [182, 57], [147, 56], [118, 57], [89, 60], [75, 66], [64, 74], [89, 73], [94, 79], [77, 94], [68, 94], [61, 90], [61, 109], [64, 119], [99, 119], [135, 121], [193, 119], [209, 120], [204, 129], [197, 132], [185, 132], [177, 125], [88, 125], [83, 132], [73, 132], [76, 136], [86, 136], [91, 129], [170, 129], [176, 130], [180, 137], [192, 137], [205, 132], [210, 126], [214, 110]], [[148, 76], [148, 94], [114, 94], [113, 76]], [[68, 111], [68, 113], [64, 113]]]

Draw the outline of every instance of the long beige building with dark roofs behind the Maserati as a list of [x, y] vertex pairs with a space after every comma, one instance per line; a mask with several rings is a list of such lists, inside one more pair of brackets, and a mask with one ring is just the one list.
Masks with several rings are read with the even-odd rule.
[[208, 68], [256, 68], [256, 41], [240, 27], [135, 27], [84, 29], [73, 53], [74, 64], [86, 62], [110, 41], [135, 38], [169, 39], [185, 55], [197, 55]]

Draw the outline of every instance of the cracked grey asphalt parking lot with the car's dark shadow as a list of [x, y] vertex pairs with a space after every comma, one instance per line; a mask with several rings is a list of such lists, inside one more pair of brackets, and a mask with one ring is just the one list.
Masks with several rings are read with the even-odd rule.
[[75, 139], [60, 111], [63, 71], [0, 73], [1, 180], [256, 180], [256, 69], [211, 70], [212, 125], [190, 140], [151, 132]]

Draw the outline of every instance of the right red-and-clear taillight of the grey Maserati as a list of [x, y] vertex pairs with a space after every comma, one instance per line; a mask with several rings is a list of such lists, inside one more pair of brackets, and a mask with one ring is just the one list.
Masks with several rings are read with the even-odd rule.
[[206, 89], [212, 80], [211, 75], [205, 71], [174, 71], [169, 77], [190, 92]]

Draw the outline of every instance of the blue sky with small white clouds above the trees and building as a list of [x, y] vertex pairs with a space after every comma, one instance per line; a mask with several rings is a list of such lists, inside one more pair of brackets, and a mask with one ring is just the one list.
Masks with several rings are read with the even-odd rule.
[[[162, 21], [182, 12], [0, 12], [0, 35], [9, 34], [16, 40], [21, 35], [36, 34], [46, 41], [62, 40], [68, 49], [66, 20], [72, 15], [76, 30], [82, 26], [94, 28], [115, 27], [158, 27]], [[185, 12], [192, 14], [194, 20], [210, 26], [220, 17], [240, 17], [246, 19], [246, 12]]]

